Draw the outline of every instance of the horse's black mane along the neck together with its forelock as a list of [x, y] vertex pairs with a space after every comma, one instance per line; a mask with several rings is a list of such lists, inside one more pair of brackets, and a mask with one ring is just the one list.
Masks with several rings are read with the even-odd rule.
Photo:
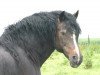
[[[62, 11], [53, 11], [53, 12], [40, 12], [33, 14], [29, 17], [22, 19], [16, 24], [8, 26], [5, 30], [5, 34], [9, 34], [11, 37], [21, 37], [25, 34], [30, 35], [31, 33], [41, 36], [41, 38], [50, 38], [51, 33], [54, 33], [57, 23], [57, 18]], [[76, 23], [75, 17], [70, 13], [66, 12], [66, 18], [70, 21], [71, 27], [73, 27], [78, 33], [81, 32], [79, 25]], [[13, 36], [12, 36], [13, 34]], [[49, 34], [49, 36], [46, 36]], [[20, 36], [19, 36], [20, 35]], [[54, 37], [54, 35], [52, 36]]]

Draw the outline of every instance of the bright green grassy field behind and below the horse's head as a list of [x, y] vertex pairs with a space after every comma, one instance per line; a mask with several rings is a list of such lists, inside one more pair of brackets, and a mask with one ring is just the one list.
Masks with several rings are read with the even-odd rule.
[[100, 75], [100, 39], [80, 39], [83, 63], [78, 68], [70, 67], [62, 53], [55, 51], [41, 68], [42, 75]]

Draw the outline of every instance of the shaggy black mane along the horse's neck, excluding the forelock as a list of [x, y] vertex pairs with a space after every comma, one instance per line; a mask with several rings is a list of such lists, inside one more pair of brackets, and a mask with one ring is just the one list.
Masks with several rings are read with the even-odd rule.
[[21, 44], [21, 42], [25, 41], [26, 43], [32, 43], [32, 37], [36, 37], [42, 43], [48, 39], [49, 43], [53, 42], [57, 22], [56, 18], [57, 15], [48, 12], [33, 14], [16, 24], [8, 26], [1, 38], [5, 41], [9, 39], [9, 42], [16, 44]]

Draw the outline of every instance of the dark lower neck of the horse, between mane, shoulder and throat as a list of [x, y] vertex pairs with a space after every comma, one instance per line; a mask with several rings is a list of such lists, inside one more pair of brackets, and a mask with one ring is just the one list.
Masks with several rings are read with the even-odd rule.
[[47, 60], [47, 58], [49, 58], [49, 56], [55, 50], [55, 46], [54, 42], [48, 40], [44, 41], [40, 38], [30, 38], [31, 43], [24, 43], [24, 45], [22, 43], [20, 44], [20, 47], [25, 50], [33, 64], [36, 63], [41, 67], [42, 64]]

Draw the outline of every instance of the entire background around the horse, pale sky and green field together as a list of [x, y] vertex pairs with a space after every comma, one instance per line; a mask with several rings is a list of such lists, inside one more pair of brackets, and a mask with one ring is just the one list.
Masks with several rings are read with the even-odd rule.
[[42, 75], [100, 75], [100, 0], [0, 0], [0, 35], [26, 16], [55, 10], [72, 14], [79, 10], [79, 47], [84, 59], [73, 69], [64, 55], [55, 51], [42, 66]]

